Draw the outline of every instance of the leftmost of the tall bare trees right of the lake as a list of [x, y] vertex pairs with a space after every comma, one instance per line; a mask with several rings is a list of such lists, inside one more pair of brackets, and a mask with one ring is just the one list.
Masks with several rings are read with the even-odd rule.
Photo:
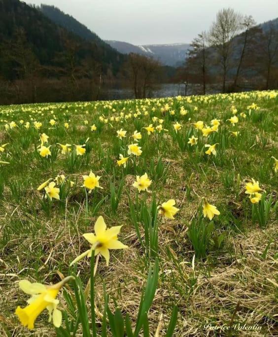
[[208, 37], [206, 32], [198, 34], [191, 42], [192, 47], [188, 53], [187, 65], [189, 68], [197, 68], [197, 72], [201, 71], [203, 81], [203, 94], [206, 94], [207, 81], [207, 57], [208, 57]]

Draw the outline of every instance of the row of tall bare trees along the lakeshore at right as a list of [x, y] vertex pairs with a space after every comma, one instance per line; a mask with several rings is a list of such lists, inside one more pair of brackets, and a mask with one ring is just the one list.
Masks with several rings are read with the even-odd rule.
[[256, 26], [252, 16], [219, 10], [208, 32], [193, 39], [184, 76], [201, 82], [204, 94], [208, 82], [219, 81], [222, 92], [277, 88], [278, 25]]

